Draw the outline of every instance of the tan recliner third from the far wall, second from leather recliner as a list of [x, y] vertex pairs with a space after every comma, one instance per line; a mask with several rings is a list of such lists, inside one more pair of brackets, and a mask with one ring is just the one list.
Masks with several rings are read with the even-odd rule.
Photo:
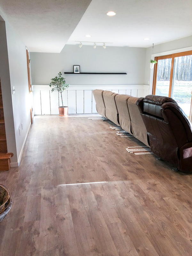
[[117, 94], [115, 96], [116, 106], [119, 113], [119, 124], [121, 128], [132, 134], [131, 131], [131, 117], [127, 100], [132, 97], [131, 95]]

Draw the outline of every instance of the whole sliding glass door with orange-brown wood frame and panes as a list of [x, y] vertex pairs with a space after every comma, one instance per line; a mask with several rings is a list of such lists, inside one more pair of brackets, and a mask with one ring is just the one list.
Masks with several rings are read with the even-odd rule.
[[172, 97], [190, 116], [192, 51], [156, 57], [153, 94]]

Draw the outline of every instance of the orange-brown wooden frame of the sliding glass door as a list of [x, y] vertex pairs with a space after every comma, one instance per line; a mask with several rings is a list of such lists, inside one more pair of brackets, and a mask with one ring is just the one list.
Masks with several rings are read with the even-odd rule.
[[156, 78], [157, 78], [157, 67], [158, 67], [158, 60], [164, 60], [164, 59], [170, 59], [172, 58], [172, 63], [171, 63], [171, 74], [170, 74], [170, 84], [169, 84], [169, 97], [172, 95], [172, 82], [173, 82], [173, 70], [174, 70], [174, 59], [176, 57], [181, 57], [181, 56], [187, 56], [187, 55], [192, 55], [192, 50], [187, 51], [187, 52], [178, 52], [178, 53], [173, 53], [173, 54], [168, 54], [168, 55], [163, 55], [163, 56], [158, 56], [155, 57], [155, 60], [157, 61], [155, 67], [154, 67], [154, 73], [153, 73], [153, 90], [152, 94], [155, 95], [156, 92]]

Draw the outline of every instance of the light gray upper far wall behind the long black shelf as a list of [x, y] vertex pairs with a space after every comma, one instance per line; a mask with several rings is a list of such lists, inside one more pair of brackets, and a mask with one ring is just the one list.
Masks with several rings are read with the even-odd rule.
[[58, 72], [125, 72], [127, 75], [64, 75], [71, 85], [144, 84], [146, 48], [66, 44], [60, 53], [30, 52], [32, 84], [50, 84]]

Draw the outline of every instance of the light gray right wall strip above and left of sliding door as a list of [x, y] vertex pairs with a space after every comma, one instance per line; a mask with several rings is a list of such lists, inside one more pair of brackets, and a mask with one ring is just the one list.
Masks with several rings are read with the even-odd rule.
[[[160, 52], [167, 52], [177, 50], [185, 47], [192, 46], [192, 36], [180, 38], [174, 41], [170, 41], [164, 44], [157, 44], [154, 46], [153, 54]], [[152, 47], [146, 49], [146, 60], [145, 60], [145, 84], [149, 84], [150, 80], [150, 64], [152, 55]]]

